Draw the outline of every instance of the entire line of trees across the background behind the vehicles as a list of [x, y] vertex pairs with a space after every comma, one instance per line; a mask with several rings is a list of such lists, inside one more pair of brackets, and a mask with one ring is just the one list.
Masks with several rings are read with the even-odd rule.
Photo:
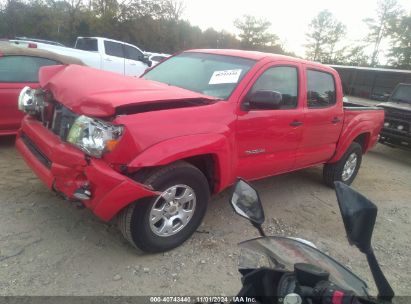
[[[201, 30], [183, 19], [181, 0], [0, 0], [0, 38], [26, 36], [73, 45], [77, 36], [104, 36], [147, 51], [236, 48], [294, 55], [270, 32], [271, 23], [245, 15], [234, 21], [236, 36]], [[396, 0], [380, 0], [376, 18], [365, 19], [369, 34], [344, 45], [346, 26], [327, 10], [311, 21], [306, 58], [329, 64], [378, 66], [381, 44], [389, 41], [389, 65], [411, 69], [411, 15]], [[367, 50], [371, 52], [367, 53]]]

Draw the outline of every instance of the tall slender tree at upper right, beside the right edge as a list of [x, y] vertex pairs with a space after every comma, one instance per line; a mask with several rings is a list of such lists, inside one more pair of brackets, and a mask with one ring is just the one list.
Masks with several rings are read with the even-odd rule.
[[367, 41], [373, 46], [370, 65], [375, 67], [379, 62], [381, 42], [389, 34], [390, 23], [400, 15], [402, 9], [397, 0], [380, 0], [377, 5], [376, 18], [366, 18], [364, 22], [369, 28]]

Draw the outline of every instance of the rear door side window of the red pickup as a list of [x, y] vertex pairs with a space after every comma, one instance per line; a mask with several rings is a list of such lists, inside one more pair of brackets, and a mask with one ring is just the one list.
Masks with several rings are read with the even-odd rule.
[[336, 103], [335, 82], [331, 74], [307, 70], [307, 103], [309, 108], [325, 108]]

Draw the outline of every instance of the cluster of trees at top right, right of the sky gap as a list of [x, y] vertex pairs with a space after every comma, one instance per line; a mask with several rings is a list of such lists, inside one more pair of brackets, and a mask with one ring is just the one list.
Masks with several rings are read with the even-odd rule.
[[389, 48], [385, 66], [411, 69], [411, 12], [406, 14], [396, 0], [380, 0], [376, 17], [363, 22], [368, 34], [361, 41], [347, 45], [344, 44], [346, 26], [328, 10], [321, 11], [306, 33], [307, 59], [328, 64], [382, 66], [381, 45], [386, 42]]

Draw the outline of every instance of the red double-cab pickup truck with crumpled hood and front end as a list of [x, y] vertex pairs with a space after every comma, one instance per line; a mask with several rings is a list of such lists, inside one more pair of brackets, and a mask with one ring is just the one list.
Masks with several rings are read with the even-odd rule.
[[69, 65], [25, 88], [17, 148], [43, 182], [130, 243], [159, 252], [184, 242], [211, 194], [324, 164], [350, 184], [384, 111], [343, 107], [335, 70], [237, 50], [177, 54], [142, 78]]

